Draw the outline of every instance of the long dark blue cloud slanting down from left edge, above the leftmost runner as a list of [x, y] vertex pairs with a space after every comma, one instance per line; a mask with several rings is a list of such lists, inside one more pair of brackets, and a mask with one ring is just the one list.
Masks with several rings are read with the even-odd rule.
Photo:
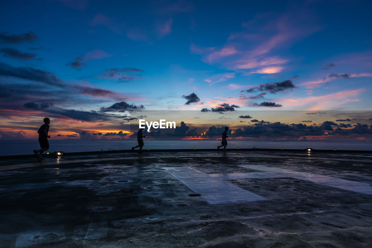
[[44, 84], [57, 87], [66, 87], [66, 84], [61, 79], [57, 78], [57, 76], [53, 73], [42, 71], [39, 69], [33, 69], [31, 67], [17, 68], [0, 62], [0, 75], [42, 82]]

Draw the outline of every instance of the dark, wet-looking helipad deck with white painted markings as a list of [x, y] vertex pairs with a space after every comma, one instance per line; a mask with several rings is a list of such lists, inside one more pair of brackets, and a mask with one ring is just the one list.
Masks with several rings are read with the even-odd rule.
[[372, 247], [372, 156], [0, 160], [0, 247]]

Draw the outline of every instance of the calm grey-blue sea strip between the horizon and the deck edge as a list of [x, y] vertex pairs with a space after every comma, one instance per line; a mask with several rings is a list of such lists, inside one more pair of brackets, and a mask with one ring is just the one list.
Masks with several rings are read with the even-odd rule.
[[[221, 144], [217, 140], [144, 140], [143, 149], [193, 149], [216, 148]], [[126, 150], [137, 145], [137, 140], [49, 140], [50, 151], [106, 151], [109, 149]], [[37, 140], [0, 141], [0, 156], [33, 154], [33, 149], [39, 149]], [[318, 150], [372, 150], [372, 142], [325, 142], [325, 141], [234, 141], [228, 140], [227, 148], [266, 148], [266, 149], [305, 149]], [[138, 149], [138, 148], [137, 148]]]

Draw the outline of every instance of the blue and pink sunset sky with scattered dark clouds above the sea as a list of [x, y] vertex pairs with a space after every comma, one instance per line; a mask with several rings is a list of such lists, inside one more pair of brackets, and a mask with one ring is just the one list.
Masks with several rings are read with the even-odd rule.
[[154, 137], [228, 126], [243, 139], [372, 141], [371, 10], [347, 0], [1, 1], [0, 139], [37, 138], [44, 117], [54, 139], [126, 139], [142, 116], [177, 122]]

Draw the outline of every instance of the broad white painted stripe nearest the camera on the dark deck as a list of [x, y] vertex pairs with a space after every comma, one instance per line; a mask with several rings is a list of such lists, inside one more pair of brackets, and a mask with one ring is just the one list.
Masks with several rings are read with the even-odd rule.
[[209, 204], [269, 200], [225, 182], [221, 178], [215, 178], [189, 167], [167, 168], [166, 172], [170, 173], [196, 194], [201, 194], [201, 198]]

